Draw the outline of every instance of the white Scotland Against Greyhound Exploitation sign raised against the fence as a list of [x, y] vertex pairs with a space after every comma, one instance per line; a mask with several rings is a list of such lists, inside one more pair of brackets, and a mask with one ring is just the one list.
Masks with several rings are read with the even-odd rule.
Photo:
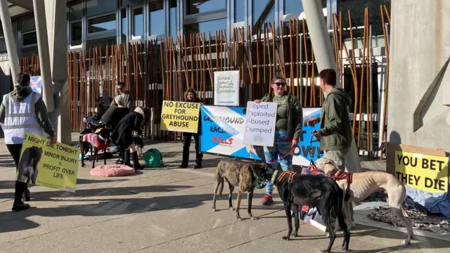
[[214, 105], [239, 106], [239, 71], [214, 72]]

